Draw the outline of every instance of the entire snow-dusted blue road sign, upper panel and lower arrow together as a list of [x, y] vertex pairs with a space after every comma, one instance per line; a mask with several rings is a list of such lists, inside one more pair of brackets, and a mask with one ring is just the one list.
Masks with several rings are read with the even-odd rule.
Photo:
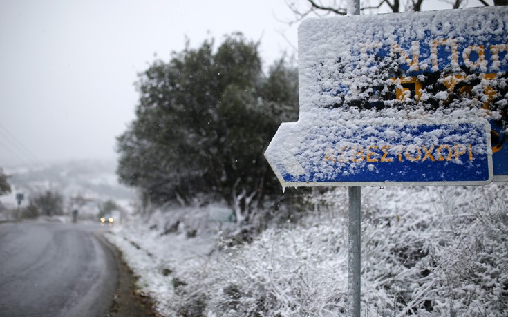
[[283, 186], [508, 181], [508, 7], [308, 19]]

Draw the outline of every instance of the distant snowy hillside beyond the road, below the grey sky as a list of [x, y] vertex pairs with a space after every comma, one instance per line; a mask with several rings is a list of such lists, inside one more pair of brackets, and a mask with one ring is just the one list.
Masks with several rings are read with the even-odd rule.
[[[81, 160], [40, 164], [39, 166], [4, 166], [12, 191], [0, 197], [0, 217], [12, 217], [17, 209], [16, 195], [23, 193], [19, 206], [26, 208], [30, 198], [46, 191], [62, 194], [64, 211], [79, 209], [82, 219], [95, 219], [100, 204], [112, 200], [126, 213], [133, 213], [135, 192], [117, 182], [116, 162]], [[0, 209], [1, 210], [1, 209]]]

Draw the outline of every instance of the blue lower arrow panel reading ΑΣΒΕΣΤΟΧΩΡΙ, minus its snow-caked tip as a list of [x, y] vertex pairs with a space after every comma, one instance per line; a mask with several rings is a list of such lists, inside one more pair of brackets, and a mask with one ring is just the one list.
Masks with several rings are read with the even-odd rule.
[[[320, 151], [311, 144], [322, 131], [314, 130], [301, 142], [289, 168], [284, 160], [271, 163], [285, 186], [487, 184], [492, 163], [486, 130], [485, 124], [465, 123], [372, 125], [350, 137], [348, 128], [334, 128], [321, 140], [326, 146]], [[309, 146], [314, 147], [312, 155], [306, 153]], [[270, 151], [267, 157], [277, 157]], [[295, 170], [294, 164], [301, 169]]]

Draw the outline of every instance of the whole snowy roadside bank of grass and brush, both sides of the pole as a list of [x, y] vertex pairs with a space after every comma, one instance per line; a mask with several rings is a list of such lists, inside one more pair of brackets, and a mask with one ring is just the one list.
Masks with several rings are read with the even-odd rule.
[[[361, 316], [508, 316], [508, 191], [362, 188]], [[114, 227], [162, 316], [344, 316], [347, 191], [250, 244], [209, 208], [156, 210]]]

